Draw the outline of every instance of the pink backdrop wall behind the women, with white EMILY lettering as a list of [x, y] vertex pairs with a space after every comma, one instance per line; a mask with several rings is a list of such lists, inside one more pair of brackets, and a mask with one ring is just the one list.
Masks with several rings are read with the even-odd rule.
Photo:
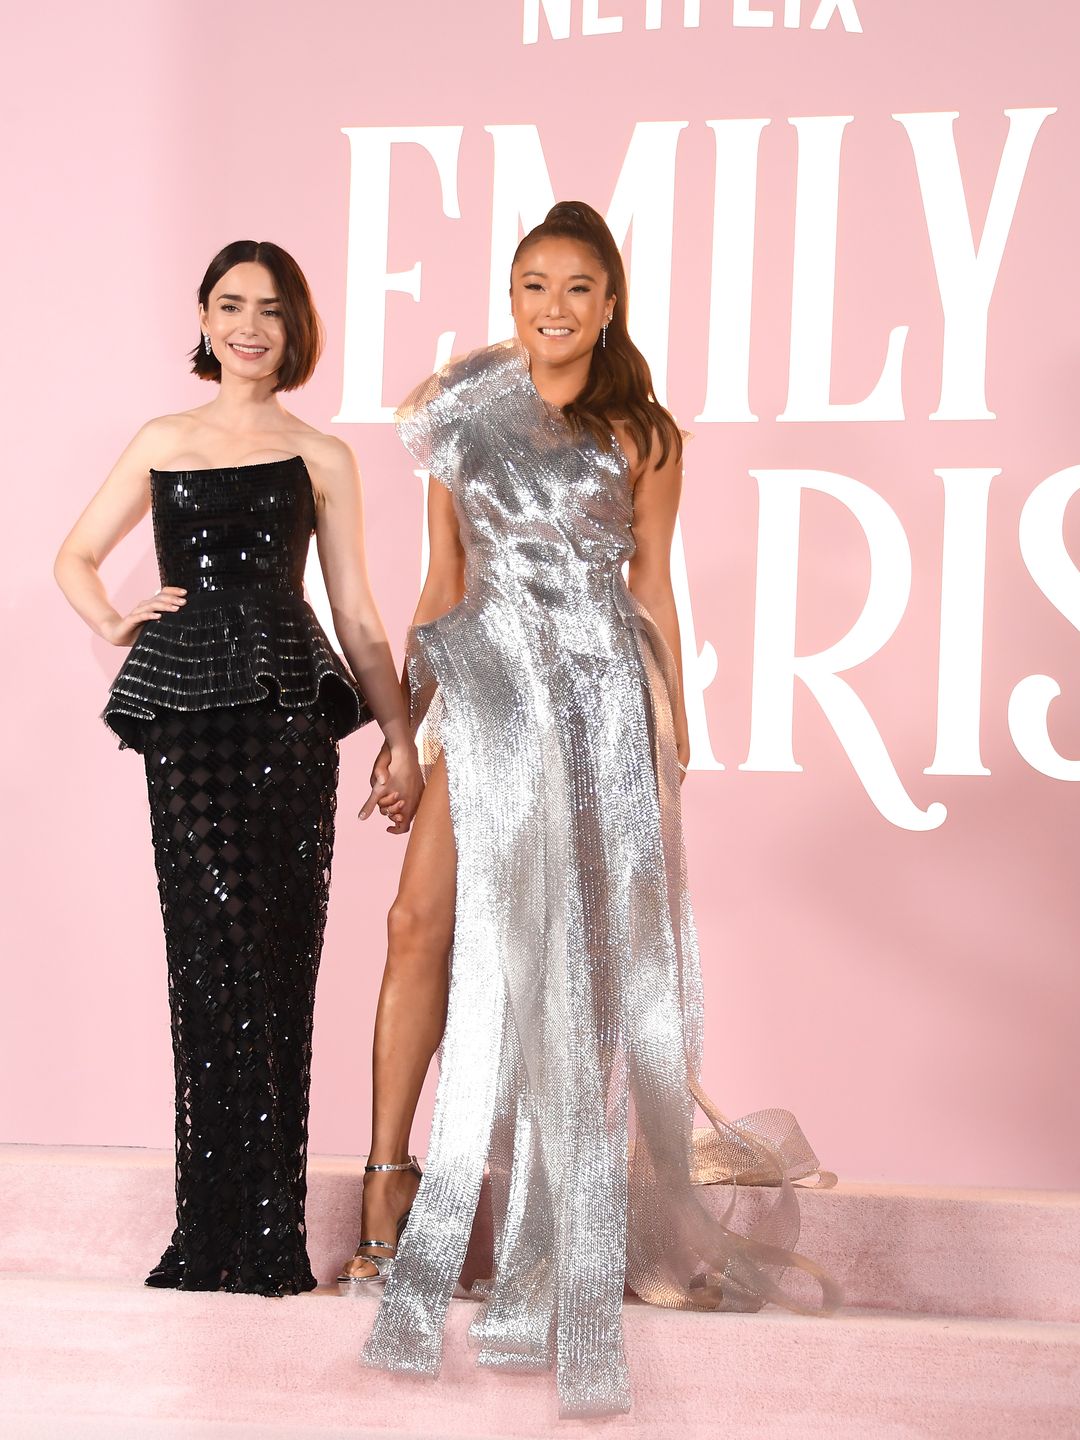
[[[556, 39], [562, 9], [572, 33]], [[606, 209], [616, 193], [636, 207], [631, 315], [662, 370], [670, 311], [668, 402], [696, 431], [685, 573], [698, 648], [711, 645], [719, 665], [700, 721], [724, 766], [693, 773], [685, 788], [708, 999], [707, 1087], [729, 1112], [791, 1104], [824, 1159], [851, 1178], [1080, 1185], [1080, 822], [1076, 765], [1067, 763], [1080, 756], [1080, 582], [1061, 550], [1054, 487], [1027, 510], [1021, 550], [1028, 498], [1047, 477], [1080, 465], [1080, 17], [1063, 0], [789, 0], [788, 27], [782, 0], [703, 0], [687, 6], [690, 19], [696, 10], [700, 23], [685, 27], [681, 0], [540, 6], [536, 43], [523, 43], [523, 0], [314, 0], [302, 10], [282, 0], [45, 0], [20, 13], [17, 43], [0, 62], [9, 408], [0, 1139], [170, 1143], [164, 960], [141, 766], [95, 719], [121, 655], [66, 609], [50, 563], [134, 429], [207, 397], [184, 374], [206, 261], [226, 240], [272, 238], [307, 269], [328, 347], [295, 408], [360, 455], [373, 577], [399, 645], [419, 577], [420, 485], [390, 428], [356, 420], [372, 395], [356, 367], [377, 361], [364, 305], [384, 315], [374, 384], [386, 405], [431, 369], [441, 334], [454, 331], [456, 350], [488, 338], [492, 194], [497, 210], [518, 199], [514, 184], [528, 177], [511, 164], [510, 147], [533, 153], [530, 135], [503, 127], [536, 127], [557, 194]], [[818, 12], [828, 16], [824, 29], [811, 26]], [[621, 17], [622, 29], [583, 35], [583, 26], [598, 29], [589, 16]], [[645, 29], [658, 16], [660, 29]], [[1041, 122], [1034, 115], [1051, 108]], [[952, 132], [940, 118], [894, 118], [949, 111], [959, 112]], [[845, 128], [822, 120], [845, 115], [854, 117]], [[768, 120], [753, 140], [756, 171], [746, 168], [755, 158], [749, 128], [721, 124], [739, 120]], [[664, 130], [664, 121], [684, 128]], [[645, 122], [652, 130], [642, 134], [660, 147], [647, 166], [651, 199], [634, 189], [629, 161], [616, 192], [635, 125]], [[393, 147], [383, 230], [376, 131], [386, 127], [435, 128], [423, 144]], [[445, 127], [462, 127], [459, 140]], [[841, 128], [838, 207], [829, 207], [828, 147]], [[351, 140], [343, 130], [354, 131]], [[966, 212], [950, 207], [950, 134]], [[729, 147], [730, 183], [714, 230], [717, 144]], [[657, 158], [664, 145], [674, 158], [670, 187], [667, 161]], [[441, 194], [432, 147], [452, 153], [459, 216], [454, 197]], [[737, 245], [752, 233], [744, 202], [753, 187], [740, 192], [737, 177], [755, 173], [750, 291]], [[981, 255], [996, 269], [984, 364], [971, 315], [985, 271], [973, 246], [995, 181], [1001, 196], [1011, 173], [1020, 192], [1015, 212], [998, 216], [999, 266], [989, 265], [989, 248]], [[534, 186], [524, 209], [537, 204]], [[886, 376], [880, 390], [886, 410], [901, 397], [903, 418], [778, 420], [789, 405], [799, 285], [795, 305], [809, 328], [796, 337], [796, 379], [808, 390], [821, 374], [827, 325], [811, 312], [832, 264], [828, 235], [814, 232], [822, 220], [828, 230], [829, 216], [831, 399], [867, 397], [890, 331], [909, 327], [900, 382]], [[968, 216], [975, 239], [965, 268]], [[495, 226], [498, 287], [513, 220]], [[416, 261], [419, 301], [399, 289], [376, 304], [382, 271]], [[743, 383], [739, 325], [749, 300]], [[985, 383], [995, 419], [930, 419], [943, 403], [946, 323], [955, 327], [956, 384], [968, 386], [966, 399], [949, 402], [952, 413], [978, 409], [972, 387]], [[710, 337], [720, 347], [714, 370], [727, 357], [730, 372], [721, 384], [716, 370], [711, 399]], [[716, 413], [724, 406], [729, 419]], [[740, 406], [757, 420], [739, 418]], [[968, 474], [943, 478], [940, 469]], [[780, 553], [780, 530], [798, 484], [782, 471], [848, 477], [848, 488], [831, 494], [834, 482], [802, 477], [796, 645], [806, 655], [841, 639], [870, 590], [883, 631], [844, 677], [851, 690], [838, 694], [861, 698], [884, 760], [881, 752], [873, 759], [873, 746], [860, 750], [848, 721], [831, 723], [796, 681], [793, 759], [802, 769], [782, 763], [783, 667], [768, 647], [786, 624], [793, 560]], [[1060, 482], [1061, 501], [1076, 484]], [[1080, 554], [1076, 504], [1066, 510], [1064, 543]], [[121, 603], [153, 589], [148, 526], [114, 554], [107, 579]], [[943, 590], [950, 648], [939, 717]], [[1032, 687], [1014, 701], [1028, 759], [1008, 723], [1014, 688], [1040, 674], [1063, 690], [1041, 760]], [[953, 756], [933, 766], [939, 730], [953, 737]], [[402, 854], [399, 841], [351, 818], [374, 746], [367, 730], [343, 752], [317, 1011], [315, 1151], [366, 1142], [383, 917]], [[852, 752], [863, 756], [863, 779]], [[755, 755], [756, 768], [740, 769]], [[698, 763], [704, 757], [698, 746]], [[1061, 778], [1041, 773], [1032, 757]], [[989, 773], [949, 773], [963, 768]], [[876, 788], [878, 804], [868, 793]], [[919, 816], [936, 802], [948, 818], [927, 824]], [[891, 819], [881, 812], [890, 804]], [[747, 1014], [755, 1025], [729, 1022]]]

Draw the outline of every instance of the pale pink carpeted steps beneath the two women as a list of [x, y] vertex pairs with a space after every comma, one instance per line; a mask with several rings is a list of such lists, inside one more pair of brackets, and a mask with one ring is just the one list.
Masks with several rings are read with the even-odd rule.
[[[314, 1161], [330, 1279], [359, 1161]], [[716, 1204], [723, 1192], [716, 1191]], [[1080, 1197], [847, 1185], [804, 1195], [804, 1248], [847, 1290], [828, 1320], [628, 1303], [634, 1411], [557, 1420], [550, 1377], [477, 1371], [454, 1302], [438, 1381], [357, 1364], [370, 1302], [147, 1290], [171, 1159], [0, 1148], [4, 1440], [1077, 1440]], [[471, 1269], [490, 1236], [481, 1214]]]

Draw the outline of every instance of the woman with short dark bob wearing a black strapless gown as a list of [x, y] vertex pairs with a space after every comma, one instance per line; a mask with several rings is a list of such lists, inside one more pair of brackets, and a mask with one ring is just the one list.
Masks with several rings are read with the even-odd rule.
[[[304, 1200], [315, 976], [337, 743], [387, 744], [361, 811], [420, 793], [367, 582], [353, 452], [289, 415], [321, 327], [295, 261], [239, 240], [199, 289], [209, 405], [145, 425], [65, 540], [56, 579], [131, 651], [104, 720], [143, 753], [168, 959], [177, 1225], [147, 1284], [312, 1289]], [[121, 615], [98, 575], [153, 510], [161, 589]], [[304, 602], [311, 533], [351, 674]], [[353, 678], [356, 677], [356, 680]]]

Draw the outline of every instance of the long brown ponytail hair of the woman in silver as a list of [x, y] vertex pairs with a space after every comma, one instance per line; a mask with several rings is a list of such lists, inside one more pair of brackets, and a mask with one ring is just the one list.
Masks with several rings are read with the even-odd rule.
[[[582, 393], [563, 406], [563, 415], [577, 431], [589, 431], [605, 449], [613, 444], [611, 423], [622, 420], [629, 431], [638, 455], [645, 459], [652, 452], [652, 438], [660, 441], [664, 464], [674, 451], [683, 455], [683, 432], [670, 410], [652, 393], [652, 376], [645, 356], [638, 350], [626, 328], [626, 271], [619, 248], [603, 216], [583, 200], [560, 200], [552, 206], [540, 225], [526, 235], [514, 251], [513, 265], [537, 240], [570, 239], [586, 245], [600, 262], [608, 276], [608, 294], [615, 295], [615, 310], [608, 324], [606, 343], [593, 346], [589, 379]], [[511, 269], [513, 269], [511, 265]]]

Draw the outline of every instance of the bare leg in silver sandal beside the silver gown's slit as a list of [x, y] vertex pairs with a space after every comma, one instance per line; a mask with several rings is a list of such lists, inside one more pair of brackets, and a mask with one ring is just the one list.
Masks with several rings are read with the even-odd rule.
[[[397, 899], [386, 922], [386, 969], [372, 1047], [372, 1165], [408, 1159], [416, 1104], [442, 1040], [456, 864], [446, 762], [439, 756], [416, 811]], [[412, 1204], [416, 1187], [409, 1171], [367, 1175], [361, 1237], [393, 1243], [397, 1218]], [[361, 1256], [347, 1270], [373, 1274], [374, 1266]]]

